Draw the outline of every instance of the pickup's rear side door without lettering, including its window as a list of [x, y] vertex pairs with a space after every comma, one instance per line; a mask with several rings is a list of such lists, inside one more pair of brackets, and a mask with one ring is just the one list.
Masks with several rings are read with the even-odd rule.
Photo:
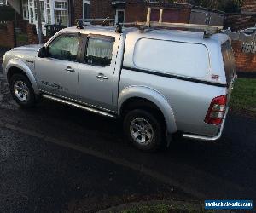
[[118, 39], [89, 35], [83, 45], [83, 63], [79, 67], [80, 101], [94, 107], [113, 110], [113, 74]]

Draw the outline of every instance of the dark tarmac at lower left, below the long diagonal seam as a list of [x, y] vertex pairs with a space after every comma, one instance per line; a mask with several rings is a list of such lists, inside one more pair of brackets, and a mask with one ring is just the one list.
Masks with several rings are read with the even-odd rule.
[[112, 204], [181, 196], [143, 173], [5, 128], [0, 156], [1, 213], [95, 212]]

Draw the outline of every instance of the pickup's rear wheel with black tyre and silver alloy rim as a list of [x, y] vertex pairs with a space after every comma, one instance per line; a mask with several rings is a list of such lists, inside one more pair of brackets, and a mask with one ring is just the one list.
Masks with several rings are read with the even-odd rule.
[[136, 109], [128, 112], [124, 119], [126, 138], [144, 152], [157, 151], [163, 141], [164, 128], [153, 113]]

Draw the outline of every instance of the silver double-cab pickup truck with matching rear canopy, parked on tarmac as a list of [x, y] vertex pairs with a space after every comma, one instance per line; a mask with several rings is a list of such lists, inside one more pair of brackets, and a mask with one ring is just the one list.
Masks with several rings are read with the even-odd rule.
[[155, 151], [176, 133], [218, 140], [236, 70], [221, 33], [86, 26], [10, 50], [3, 74], [21, 107], [44, 97], [122, 118], [125, 138]]

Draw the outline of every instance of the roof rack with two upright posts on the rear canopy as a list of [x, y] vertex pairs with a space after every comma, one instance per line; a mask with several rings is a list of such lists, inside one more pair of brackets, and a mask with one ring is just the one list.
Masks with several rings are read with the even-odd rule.
[[160, 9], [160, 19], [159, 21], [151, 21], [151, 8], [148, 7], [147, 21], [146, 22], [133, 22], [125, 23], [124, 25], [135, 25], [139, 26], [140, 31], [144, 32], [146, 29], [152, 27], [164, 27], [164, 28], [174, 28], [174, 29], [186, 29], [197, 32], [204, 32], [204, 37], [210, 37], [212, 34], [221, 32], [224, 26], [207, 26], [207, 25], [195, 25], [195, 24], [185, 24], [185, 23], [169, 23], [163, 22], [164, 9]]

